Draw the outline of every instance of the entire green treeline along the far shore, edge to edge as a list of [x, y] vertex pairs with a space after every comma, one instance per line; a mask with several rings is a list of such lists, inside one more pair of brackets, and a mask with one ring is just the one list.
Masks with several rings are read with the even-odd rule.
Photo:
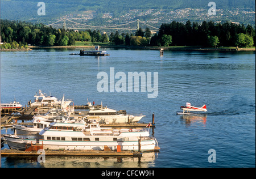
[[27, 48], [27, 45], [75, 45], [76, 41], [110, 42], [114, 45], [133, 46], [255, 46], [255, 27], [213, 22], [183, 24], [172, 22], [162, 24], [159, 32], [152, 35], [150, 29], [139, 28], [135, 33], [118, 31], [101, 33], [100, 31], [73, 31], [64, 28], [45, 27], [10, 20], [1, 20], [1, 48]]

